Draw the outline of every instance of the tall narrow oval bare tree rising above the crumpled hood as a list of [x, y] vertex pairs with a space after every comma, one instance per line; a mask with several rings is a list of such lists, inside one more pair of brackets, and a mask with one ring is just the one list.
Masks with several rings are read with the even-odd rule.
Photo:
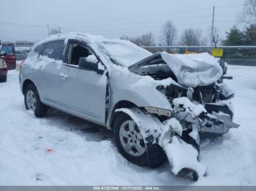
[[166, 23], [162, 26], [162, 34], [160, 37], [162, 44], [165, 46], [173, 45], [176, 35], [176, 27], [173, 25], [171, 20], [167, 20]]

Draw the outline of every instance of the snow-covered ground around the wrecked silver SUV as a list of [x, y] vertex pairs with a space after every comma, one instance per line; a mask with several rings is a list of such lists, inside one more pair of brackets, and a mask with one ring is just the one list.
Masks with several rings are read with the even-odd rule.
[[173, 176], [167, 163], [157, 169], [129, 163], [110, 131], [77, 117], [50, 109], [37, 119], [23, 104], [18, 71], [9, 71], [0, 84], [0, 184], [256, 185], [256, 96], [246, 93], [255, 93], [256, 82], [245, 84], [248, 69], [241, 66], [228, 71], [234, 80], [226, 82], [240, 88], [233, 104], [241, 127], [203, 141], [200, 160], [208, 165], [208, 176], [197, 182]]

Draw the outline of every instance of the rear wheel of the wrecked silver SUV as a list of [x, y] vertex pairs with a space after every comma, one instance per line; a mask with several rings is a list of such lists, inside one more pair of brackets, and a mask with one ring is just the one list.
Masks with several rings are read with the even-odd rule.
[[24, 102], [26, 109], [31, 109], [34, 111], [34, 115], [36, 117], [45, 117], [48, 106], [45, 106], [45, 104], [42, 104], [40, 101], [37, 87], [31, 84], [26, 87], [24, 93]]

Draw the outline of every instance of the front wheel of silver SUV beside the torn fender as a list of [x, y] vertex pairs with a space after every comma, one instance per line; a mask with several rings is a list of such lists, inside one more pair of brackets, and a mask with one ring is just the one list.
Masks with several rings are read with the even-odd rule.
[[[129, 129], [129, 125], [132, 124], [132, 122], [135, 124], [133, 134], [132, 130]], [[165, 152], [162, 150], [162, 147], [158, 144], [153, 144], [153, 136], [143, 138], [138, 126], [128, 114], [124, 114], [122, 112], [118, 114], [113, 131], [116, 147], [121, 155], [127, 158], [131, 163], [150, 166], [151, 168], [157, 168], [159, 165], [165, 163], [167, 157]], [[124, 134], [126, 137], [123, 136]], [[145, 140], [147, 140], [147, 144], [145, 144]], [[126, 143], [133, 144], [133, 146], [125, 149], [124, 145], [127, 145]], [[128, 152], [128, 150], [130, 150], [130, 152]], [[140, 152], [138, 152], [138, 150]]]

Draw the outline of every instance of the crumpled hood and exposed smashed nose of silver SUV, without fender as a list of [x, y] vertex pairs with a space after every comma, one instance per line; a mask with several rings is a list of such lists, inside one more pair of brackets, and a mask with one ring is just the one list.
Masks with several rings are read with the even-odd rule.
[[[205, 75], [205, 73], [207, 74], [209, 70], [209, 74], [211, 74], [210, 77], [208, 77], [208, 75], [202, 77], [202, 75], [195, 76], [195, 74], [192, 74], [198, 74], [197, 71], [187, 75], [177, 75], [176, 73], [179, 71], [174, 72], [167, 62], [173, 61], [173, 63], [179, 63], [176, 59], [171, 60], [170, 58], [166, 58], [167, 56], [169, 56], [167, 53], [165, 55], [157, 53], [129, 67], [129, 70], [135, 74], [150, 76], [155, 80], [172, 78], [175, 81], [170, 85], [157, 86], [157, 90], [165, 95], [165, 98], [167, 98], [174, 111], [168, 112], [167, 110], [162, 111], [161, 109], [159, 109], [159, 111], [154, 111], [154, 109], [151, 111], [152, 109], [147, 108], [146, 111], [158, 114], [159, 116], [175, 117], [178, 120], [186, 120], [187, 122], [192, 122], [192, 119], [194, 119], [193, 122], [200, 126], [200, 128], [198, 128], [200, 133], [206, 133], [207, 136], [222, 135], [223, 133], [227, 133], [230, 128], [237, 128], [238, 125], [232, 122], [233, 105], [230, 102], [230, 99], [234, 96], [234, 91], [227, 85], [217, 82], [218, 79], [222, 77], [222, 69], [218, 66], [214, 69], [211, 69], [211, 67], [207, 68], [206, 64], [206, 66], [202, 67], [203, 69], [198, 70], [203, 71], [203, 75]], [[197, 57], [200, 58], [200, 55], [197, 55]], [[203, 55], [203, 57], [208, 58], [211, 57], [211, 55]], [[200, 62], [203, 62], [203, 59]], [[212, 62], [214, 63], [214, 61]], [[217, 61], [215, 61], [214, 64], [218, 64]], [[173, 68], [178, 67], [174, 66]], [[181, 66], [181, 70], [182, 69], [184, 69], [184, 67]], [[189, 70], [189, 68], [187, 68], [187, 70]], [[178, 78], [186, 78], [189, 76], [194, 76], [197, 79], [190, 79], [190, 82], [187, 79], [178, 80]], [[207, 85], [207, 83], [210, 84]], [[187, 98], [187, 101], [182, 102], [182, 98]], [[189, 103], [197, 106], [200, 105], [201, 109], [199, 112], [196, 111], [195, 113], [195, 111], [192, 111], [191, 106], [188, 106]], [[194, 112], [194, 116], [189, 116], [191, 112]], [[163, 117], [163, 119], [165, 119], [165, 117]], [[195, 119], [195, 117], [197, 119]]]

